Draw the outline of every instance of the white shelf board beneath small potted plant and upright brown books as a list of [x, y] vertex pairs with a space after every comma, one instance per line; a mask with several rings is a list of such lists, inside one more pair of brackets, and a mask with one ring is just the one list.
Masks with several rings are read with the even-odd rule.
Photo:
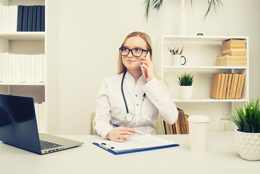
[[247, 99], [214, 99], [214, 98], [173, 98], [174, 102], [245, 102]]

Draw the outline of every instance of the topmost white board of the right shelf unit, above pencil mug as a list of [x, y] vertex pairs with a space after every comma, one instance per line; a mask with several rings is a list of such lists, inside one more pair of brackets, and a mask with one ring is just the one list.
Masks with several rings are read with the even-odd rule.
[[172, 42], [222, 42], [230, 38], [247, 39], [247, 36], [182, 36], [182, 35], [162, 35], [164, 41]]

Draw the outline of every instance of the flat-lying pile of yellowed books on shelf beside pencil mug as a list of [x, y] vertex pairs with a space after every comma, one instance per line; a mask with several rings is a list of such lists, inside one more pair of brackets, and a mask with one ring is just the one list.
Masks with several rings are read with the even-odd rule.
[[246, 66], [245, 39], [229, 39], [222, 42], [222, 57], [216, 58], [217, 66]]

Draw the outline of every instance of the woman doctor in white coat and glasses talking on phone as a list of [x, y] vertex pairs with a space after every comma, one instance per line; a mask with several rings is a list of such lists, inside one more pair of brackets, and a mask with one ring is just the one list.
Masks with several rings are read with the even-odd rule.
[[130, 33], [119, 49], [118, 74], [102, 81], [96, 99], [95, 134], [116, 142], [126, 141], [134, 132], [155, 134], [159, 112], [167, 123], [176, 122], [178, 110], [154, 76], [152, 62], [150, 37], [142, 32]]

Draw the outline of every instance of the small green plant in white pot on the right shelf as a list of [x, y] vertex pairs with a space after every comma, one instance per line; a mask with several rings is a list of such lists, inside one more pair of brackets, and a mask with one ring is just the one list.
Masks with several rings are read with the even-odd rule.
[[194, 76], [190, 74], [184, 73], [184, 75], [178, 76], [179, 81], [177, 81], [180, 85], [180, 97], [184, 99], [189, 99], [193, 94], [193, 81]]

